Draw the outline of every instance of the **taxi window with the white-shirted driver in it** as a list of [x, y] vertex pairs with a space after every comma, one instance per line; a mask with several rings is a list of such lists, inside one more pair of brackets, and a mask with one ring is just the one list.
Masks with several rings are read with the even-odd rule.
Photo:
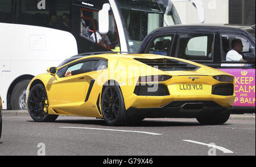
[[[238, 45], [241, 47], [239, 48]], [[245, 53], [254, 54], [255, 57], [255, 50], [249, 40], [237, 35], [221, 34], [221, 60], [237, 62], [225, 63], [221, 66], [250, 66], [243, 59], [242, 55]]]

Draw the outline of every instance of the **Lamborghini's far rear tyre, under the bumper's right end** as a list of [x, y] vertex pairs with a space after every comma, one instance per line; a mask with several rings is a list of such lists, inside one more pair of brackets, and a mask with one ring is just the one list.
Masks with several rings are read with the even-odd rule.
[[220, 125], [228, 121], [230, 117], [231, 110], [222, 110], [219, 113], [214, 114], [203, 114], [197, 117], [197, 121], [203, 125]]

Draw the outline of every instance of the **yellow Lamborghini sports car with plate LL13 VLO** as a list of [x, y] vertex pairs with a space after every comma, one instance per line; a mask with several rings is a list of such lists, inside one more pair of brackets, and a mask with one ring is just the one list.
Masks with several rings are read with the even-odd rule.
[[155, 54], [78, 55], [35, 76], [27, 109], [36, 122], [58, 115], [103, 118], [109, 126], [144, 118], [197, 118], [225, 123], [234, 76], [199, 63]]

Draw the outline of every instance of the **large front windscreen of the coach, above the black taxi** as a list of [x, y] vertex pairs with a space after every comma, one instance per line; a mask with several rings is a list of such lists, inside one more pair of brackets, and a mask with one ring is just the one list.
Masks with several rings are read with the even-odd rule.
[[156, 28], [181, 24], [170, 0], [117, 0], [129, 52], [136, 53], [144, 37]]

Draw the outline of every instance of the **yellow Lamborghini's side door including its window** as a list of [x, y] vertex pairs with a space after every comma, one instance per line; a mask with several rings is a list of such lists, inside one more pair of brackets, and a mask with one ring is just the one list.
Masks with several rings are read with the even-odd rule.
[[[98, 60], [90, 59], [77, 63], [72, 63], [65, 68], [59, 79], [54, 80], [49, 89], [49, 105], [55, 112], [72, 113], [85, 102], [91, 79], [88, 72], [93, 70]], [[75, 74], [65, 77], [67, 71], [76, 71]]]

